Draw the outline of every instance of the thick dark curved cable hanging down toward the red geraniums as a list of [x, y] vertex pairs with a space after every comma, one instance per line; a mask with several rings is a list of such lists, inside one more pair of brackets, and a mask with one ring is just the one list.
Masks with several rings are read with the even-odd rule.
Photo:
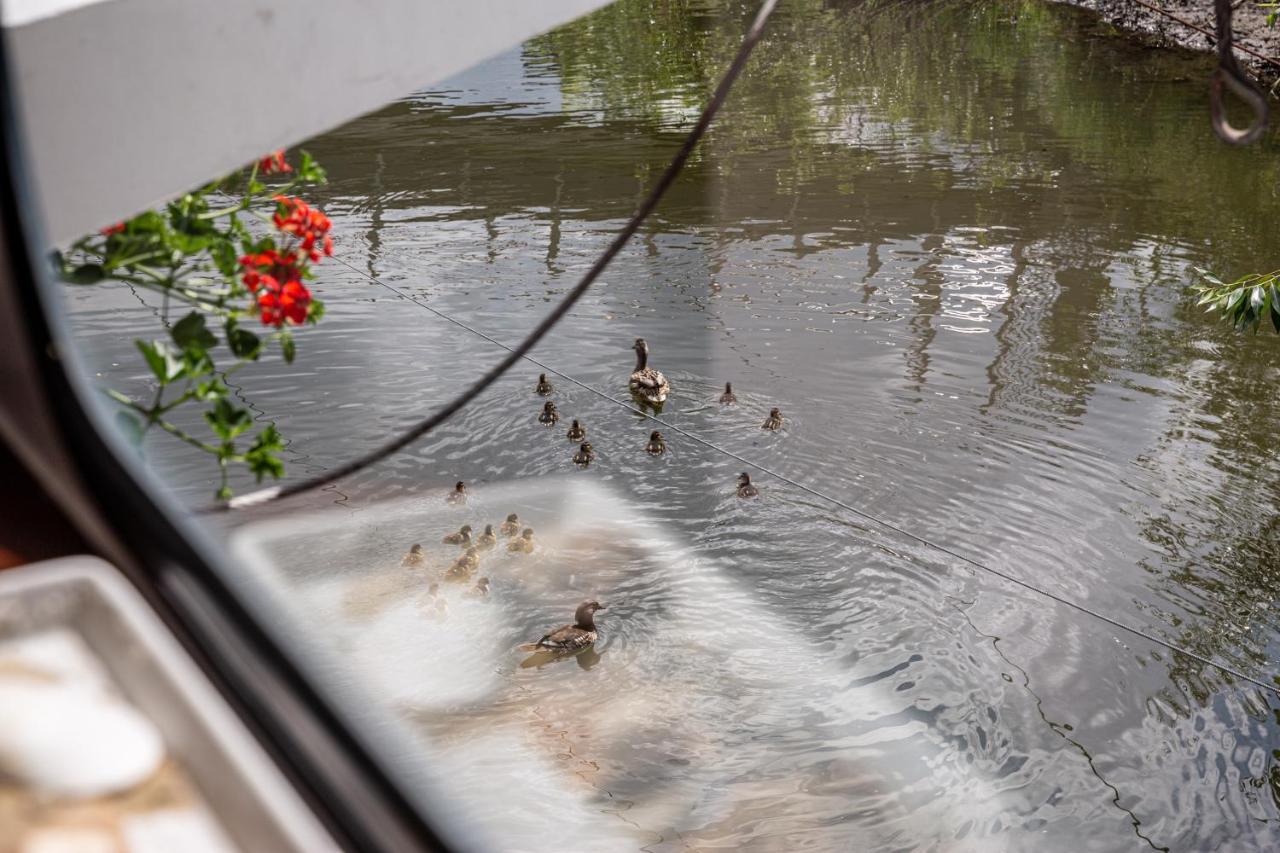
[[640, 202], [640, 207], [631, 214], [631, 219], [627, 220], [627, 224], [622, 228], [622, 231], [617, 233], [604, 252], [595, 260], [591, 269], [589, 269], [582, 277], [582, 280], [580, 280], [573, 289], [559, 301], [550, 314], [543, 318], [543, 321], [538, 324], [538, 328], [530, 332], [518, 346], [511, 350], [511, 353], [506, 359], [494, 365], [493, 369], [480, 377], [480, 379], [477, 379], [461, 394], [381, 447], [378, 447], [364, 456], [348, 460], [333, 470], [325, 471], [317, 476], [291, 483], [288, 485], [276, 485], [268, 489], [250, 492], [248, 494], [232, 498], [225, 503], [216, 503], [204, 511], [218, 512], [225, 510], [239, 510], [266, 503], [269, 501], [292, 497], [294, 494], [302, 494], [303, 492], [311, 492], [328, 485], [334, 480], [340, 480], [342, 478], [366, 469], [370, 465], [376, 465], [388, 456], [402, 451], [408, 444], [430, 433], [433, 429], [456, 415], [472, 400], [484, 393], [489, 386], [500, 379], [512, 365], [538, 346], [538, 342], [541, 341], [548, 332], [556, 328], [556, 324], [559, 323], [566, 314], [568, 314], [568, 310], [573, 307], [580, 298], [582, 298], [582, 295], [590, 289], [591, 284], [595, 283], [595, 279], [600, 277], [600, 273], [603, 273], [617, 254], [622, 251], [622, 247], [628, 240], [631, 240], [636, 231], [640, 229], [640, 225], [644, 224], [644, 220], [653, 213], [654, 207], [658, 206], [663, 195], [666, 195], [667, 190], [671, 188], [671, 184], [676, 182], [676, 178], [680, 175], [680, 170], [685, 168], [685, 163], [689, 161], [689, 155], [694, 152], [694, 147], [699, 141], [701, 141], [703, 136], [705, 136], [707, 128], [710, 127], [712, 119], [716, 118], [716, 113], [719, 111], [719, 108], [728, 99], [728, 92], [733, 87], [733, 82], [737, 79], [739, 74], [742, 73], [742, 68], [746, 67], [746, 60], [751, 55], [751, 49], [755, 47], [756, 42], [760, 40], [760, 35], [764, 32], [764, 24], [768, 22], [769, 15], [773, 14], [773, 9], [777, 4], [778, 0], [764, 0], [764, 3], [760, 4], [760, 10], [755, 14], [755, 20], [751, 22], [750, 29], [748, 29], [746, 35], [742, 37], [742, 46], [739, 47], [737, 55], [733, 56], [733, 63], [728, 67], [728, 70], [724, 72], [724, 77], [721, 78], [710, 101], [708, 101], [707, 106], [703, 108], [701, 115], [698, 117], [698, 124], [695, 124], [694, 129], [685, 137], [685, 142], [680, 146], [680, 151], [677, 151], [676, 156], [672, 158], [671, 164], [667, 167], [667, 170], [663, 172], [658, 183], [654, 184], [653, 190], [649, 191], [649, 195]]

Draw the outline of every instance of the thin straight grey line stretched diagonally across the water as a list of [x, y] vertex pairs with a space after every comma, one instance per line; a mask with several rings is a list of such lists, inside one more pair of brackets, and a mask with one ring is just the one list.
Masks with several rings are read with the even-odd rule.
[[[387, 282], [384, 282], [380, 278], [378, 278], [376, 275], [366, 273], [365, 270], [360, 269], [358, 266], [355, 266], [353, 264], [349, 264], [346, 260], [342, 260], [342, 259], [335, 259], [335, 260], [338, 260], [339, 264], [342, 264], [347, 269], [352, 270], [357, 275], [361, 275], [361, 277], [369, 279], [370, 282], [372, 282], [374, 284], [384, 287], [388, 291], [390, 291], [392, 293], [396, 293], [397, 296], [399, 296], [402, 298], [406, 298], [406, 300], [413, 302], [415, 305], [417, 305], [417, 306], [420, 306], [422, 309], [426, 309], [428, 311], [430, 311], [435, 316], [440, 318], [442, 320], [452, 323], [453, 325], [458, 327], [460, 329], [465, 329], [466, 332], [470, 332], [471, 334], [474, 334], [474, 336], [476, 336], [479, 338], [484, 338], [489, 343], [492, 343], [492, 345], [494, 345], [497, 347], [502, 347], [503, 350], [506, 350], [508, 352], [516, 352], [515, 347], [512, 347], [512, 346], [509, 346], [507, 343], [503, 343], [502, 341], [499, 341], [498, 338], [493, 337], [492, 334], [488, 334], [486, 332], [483, 332], [483, 330], [475, 328], [474, 325], [470, 325], [468, 323], [465, 323], [465, 321], [457, 319], [456, 316], [445, 314], [444, 311], [434, 307], [433, 305], [430, 305], [430, 304], [420, 300], [417, 296], [415, 296], [412, 293], [407, 293], [407, 292], [399, 289], [398, 287], [393, 287], [392, 284], [388, 284]], [[943, 546], [943, 544], [941, 544], [938, 542], [934, 542], [932, 539], [927, 539], [927, 538], [924, 538], [924, 537], [922, 537], [922, 535], [919, 535], [916, 533], [911, 533], [910, 530], [908, 530], [905, 528], [901, 528], [901, 526], [893, 524], [892, 521], [887, 521], [886, 519], [882, 519], [879, 516], [872, 515], [870, 512], [867, 512], [865, 510], [859, 510], [858, 507], [851, 506], [850, 503], [846, 503], [845, 501], [841, 501], [840, 498], [837, 498], [837, 497], [835, 497], [832, 494], [827, 494], [826, 492], [823, 492], [820, 489], [817, 489], [817, 488], [814, 488], [812, 485], [806, 485], [805, 483], [801, 483], [800, 480], [792, 479], [791, 476], [787, 476], [786, 474], [782, 474], [781, 471], [777, 471], [777, 470], [774, 470], [772, 467], [768, 467], [767, 465], [762, 465], [762, 464], [759, 464], [756, 461], [753, 461], [753, 460], [750, 460], [750, 459], [748, 459], [748, 457], [745, 457], [745, 456], [742, 456], [740, 453], [736, 453], [736, 452], [728, 450], [727, 447], [722, 447], [722, 446], [717, 444], [716, 442], [708, 441], [708, 439], [703, 438], [701, 435], [699, 435], [696, 433], [692, 433], [692, 432], [690, 432], [690, 430], [687, 430], [687, 429], [685, 429], [682, 426], [677, 426], [676, 424], [673, 424], [673, 423], [671, 423], [668, 420], [663, 420], [662, 418], [659, 418], [659, 416], [657, 416], [657, 415], [654, 415], [652, 412], [648, 412], [648, 411], [640, 409], [639, 406], [632, 405], [628, 401], [625, 401], [625, 400], [614, 397], [614, 396], [612, 396], [609, 393], [605, 393], [605, 392], [600, 391], [599, 388], [596, 388], [595, 386], [590, 386], [590, 384], [588, 384], [588, 383], [585, 383], [585, 382], [582, 382], [582, 380], [580, 380], [580, 379], [577, 379], [577, 378], [575, 378], [575, 377], [564, 373], [563, 370], [558, 370], [557, 368], [553, 368], [552, 365], [547, 364], [545, 361], [540, 361], [540, 360], [532, 357], [531, 355], [525, 355], [522, 357], [526, 361], [529, 361], [529, 362], [536, 365], [538, 368], [545, 370], [547, 373], [554, 374], [554, 375], [559, 377], [561, 379], [564, 379], [566, 382], [570, 382], [570, 383], [577, 386], [579, 388], [582, 388], [584, 391], [588, 391], [588, 392], [595, 394], [600, 400], [608, 401], [608, 402], [611, 402], [611, 403], [613, 403], [616, 406], [620, 406], [621, 409], [626, 409], [630, 412], [634, 412], [634, 414], [641, 415], [644, 418], [648, 418], [649, 420], [654, 421], [655, 424], [660, 424], [664, 429], [668, 429], [672, 433], [684, 435], [685, 438], [687, 438], [687, 439], [690, 439], [692, 442], [696, 442], [696, 443], [701, 444], [703, 447], [713, 450], [713, 451], [716, 451], [718, 453], [723, 453], [724, 456], [728, 456], [730, 459], [736, 460], [736, 461], [741, 462], [742, 465], [753, 467], [756, 471], [760, 471], [762, 474], [767, 474], [767, 475], [774, 478], [776, 480], [786, 483], [787, 485], [790, 485], [790, 487], [792, 487], [795, 489], [799, 489], [799, 491], [801, 491], [801, 492], [804, 492], [806, 494], [810, 494], [810, 496], [813, 496], [815, 498], [819, 498], [819, 500], [826, 501], [826, 502], [828, 502], [828, 503], [831, 503], [833, 506], [837, 506], [837, 507], [840, 507], [840, 508], [842, 508], [842, 510], [845, 510], [847, 512], [851, 512], [855, 516], [858, 516], [858, 517], [860, 517], [860, 519], [863, 519], [865, 521], [870, 521], [872, 524], [877, 524], [881, 528], [884, 528], [886, 530], [892, 530], [893, 533], [896, 533], [896, 534], [899, 534], [901, 537], [905, 537], [906, 539], [910, 539], [911, 542], [915, 542], [916, 544], [922, 544], [922, 546], [924, 546], [927, 548], [932, 548], [933, 551], [937, 551], [938, 553], [945, 553], [948, 557], [952, 557], [952, 558], [959, 560], [960, 562], [963, 562], [963, 564], [965, 564], [968, 566], [972, 566], [973, 569], [978, 569], [979, 571], [984, 571], [984, 573], [987, 573], [989, 575], [1000, 578], [1001, 580], [1011, 583], [1011, 584], [1014, 584], [1016, 587], [1021, 587], [1023, 589], [1025, 589], [1028, 592], [1032, 592], [1032, 593], [1036, 593], [1038, 596], [1043, 596], [1044, 598], [1048, 598], [1051, 601], [1055, 601], [1059, 605], [1062, 605], [1064, 607], [1069, 607], [1069, 608], [1075, 610], [1075, 611], [1078, 611], [1080, 613], [1084, 613], [1087, 616], [1092, 616], [1093, 619], [1097, 619], [1098, 621], [1106, 622], [1107, 625], [1111, 625], [1112, 628], [1116, 628], [1116, 629], [1119, 629], [1121, 631], [1125, 631], [1125, 633], [1132, 634], [1134, 637], [1140, 637], [1142, 639], [1144, 639], [1144, 640], [1147, 640], [1149, 643], [1153, 643], [1156, 646], [1164, 647], [1164, 648], [1166, 648], [1166, 649], [1169, 649], [1171, 652], [1175, 652], [1178, 654], [1183, 654], [1184, 657], [1188, 657], [1188, 658], [1190, 658], [1193, 661], [1203, 663], [1204, 666], [1213, 667], [1216, 670], [1226, 672], [1228, 675], [1233, 675], [1233, 676], [1240, 679], [1242, 681], [1248, 681], [1249, 684], [1253, 684], [1254, 686], [1262, 688], [1263, 690], [1267, 690], [1270, 693], [1280, 695], [1280, 685], [1267, 684], [1266, 681], [1261, 681], [1261, 680], [1258, 680], [1258, 679], [1256, 679], [1256, 678], [1253, 678], [1251, 675], [1247, 675], [1245, 672], [1242, 672], [1240, 670], [1233, 667], [1229, 663], [1222, 663], [1220, 661], [1215, 661], [1211, 657], [1206, 657], [1203, 654], [1199, 654], [1198, 652], [1193, 652], [1192, 649], [1185, 648], [1183, 646], [1179, 646], [1179, 644], [1176, 644], [1174, 642], [1170, 642], [1170, 640], [1162, 639], [1160, 637], [1156, 637], [1155, 634], [1152, 634], [1152, 633], [1149, 633], [1147, 630], [1143, 630], [1140, 628], [1134, 628], [1133, 625], [1123, 622], [1123, 621], [1120, 621], [1117, 619], [1112, 619], [1111, 616], [1107, 616], [1106, 613], [1096, 611], [1092, 607], [1088, 607], [1087, 605], [1082, 605], [1079, 602], [1071, 601], [1070, 598], [1060, 596], [1059, 593], [1055, 593], [1055, 592], [1052, 592], [1050, 589], [1044, 589], [1042, 587], [1037, 587], [1036, 584], [1033, 584], [1029, 580], [1023, 580], [1021, 578], [1018, 578], [1016, 575], [1011, 575], [1011, 574], [1009, 574], [1006, 571], [1001, 571], [1000, 569], [996, 569], [993, 566], [988, 566], [987, 564], [984, 564], [984, 562], [982, 562], [979, 560], [975, 560], [974, 557], [968, 557], [964, 553], [960, 553], [959, 551], [955, 551], [955, 549], [952, 549], [952, 548], [950, 548], [947, 546]]]

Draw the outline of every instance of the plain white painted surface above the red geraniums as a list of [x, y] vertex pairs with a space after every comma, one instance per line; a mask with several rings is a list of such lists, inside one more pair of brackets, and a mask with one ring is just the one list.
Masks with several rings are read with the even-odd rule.
[[79, 237], [605, 0], [5, 4], [46, 237]]

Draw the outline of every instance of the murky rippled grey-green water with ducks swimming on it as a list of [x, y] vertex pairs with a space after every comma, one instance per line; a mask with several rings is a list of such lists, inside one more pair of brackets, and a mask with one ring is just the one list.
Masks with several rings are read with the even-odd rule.
[[[340, 255], [518, 339], [666, 164], [750, 14], [625, 0], [314, 140]], [[783, 3], [685, 177], [538, 356], [621, 393], [644, 336], [672, 423], [1270, 679], [1280, 342], [1216, 325], [1188, 282], [1276, 265], [1280, 160], [1213, 138], [1210, 68], [1041, 3]], [[243, 371], [294, 475], [502, 355], [338, 265], [317, 291], [300, 362]], [[72, 305], [104, 378], [143, 388], [128, 336], [150, 310]], [[353, 620], [334, 678], [372, 678], [504, 849], [1280, 841], [1275, 697], [763, 474], [739, 502], [739, 462], [671, 434], [650, 459], [650, 425], [559, 382], [600, 453], [577, 471], [535, 423], [535, 377], [271, 514], [330, 530], [276, 557]], [[713, 403], [724, 380], [736, 409]], [[150, 453], [183, 497], [212, 491], [207, 460]], [[442, 512], [460, 478], [477, 501]], [[602, 492], [564, 508], [585, 485]], [[421, 579], [379, 580], [507, 503], [550, 538], [536, 573], [486, 564], [492, 601], [449, 592], [434, 622]], [[600, 503], [623, 507], [613, 526]], [[599, 660], [518, 669], [512, 647], [586, 594], [618, 598]]]

